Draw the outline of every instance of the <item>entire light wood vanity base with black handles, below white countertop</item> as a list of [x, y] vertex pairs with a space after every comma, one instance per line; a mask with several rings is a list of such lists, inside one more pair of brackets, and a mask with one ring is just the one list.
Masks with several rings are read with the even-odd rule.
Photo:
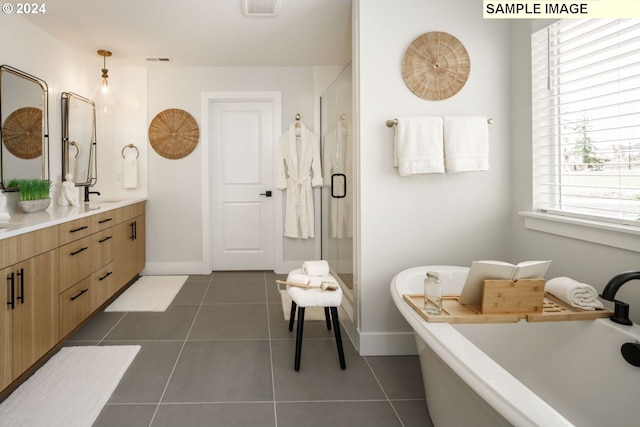
[[0, 391], [144, 268], [144, 202], [0, 239]]

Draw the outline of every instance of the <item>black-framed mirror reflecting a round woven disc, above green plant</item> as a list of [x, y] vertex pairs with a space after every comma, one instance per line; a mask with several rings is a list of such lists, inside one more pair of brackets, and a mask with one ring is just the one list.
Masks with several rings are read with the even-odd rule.
[[0, 188], [14, 178], [49, 179], [47, 83], [0, 66]]

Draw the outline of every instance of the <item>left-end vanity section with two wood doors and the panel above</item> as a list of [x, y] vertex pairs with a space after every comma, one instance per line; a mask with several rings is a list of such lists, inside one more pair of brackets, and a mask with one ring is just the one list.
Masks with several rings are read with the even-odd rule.
[[[57, 227], [6, 239], [10, 266], [2, 269], [0, 381], [5, 388], [60, 340]], [[4, 252], [4, 251], [3, 251]]]

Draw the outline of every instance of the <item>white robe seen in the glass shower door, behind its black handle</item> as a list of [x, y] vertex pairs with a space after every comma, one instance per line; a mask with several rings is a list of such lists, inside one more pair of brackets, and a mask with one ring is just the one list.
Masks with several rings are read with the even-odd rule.
[[[331, 214], [331, 237], [342, 239], [345, 237], [352, 237], [352, 219], [351, 219], [351, 200], [352, 200], [352, 188], [351, 185], [351, 132], [350, 126], [347, 122], [342, 121], [337, 128], [333, 129], [324, 137], [324, 145], [322, 150], [322, 167], [324, 182], [329, 187], [331, 192], [331, 179], [333, 174], [344, 174], [347, 177], [347, 184], [344, 190], [346, 196], [343, 198], [329, 199], [330, 214]], [[340, 185], [342, 183], [341, 178], [337, 178], [335, 184], [338, 188], [334, 189], [334, 192], [339, 195], [342, 193]]]

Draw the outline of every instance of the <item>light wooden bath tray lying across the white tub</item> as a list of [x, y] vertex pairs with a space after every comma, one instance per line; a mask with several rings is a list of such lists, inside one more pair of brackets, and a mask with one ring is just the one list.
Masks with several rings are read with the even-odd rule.
[[541, 313], [482, 313], [466, 304], [458, 302], [459, 295], [445, 295], [442, 298], [442, 314], [428, 314], [422, 308], [424, 296], [404, 294], [403, 299], [424, 320], [433, 323], [516, 323], [520, 320], [527, 322], [556, 322], [561, 320], [593, 320], [599, 317], [610, 317], [613, 312], [609, 309], [582, 310], [572, 307], [548, 293], [544, 294], [544, 304]]

